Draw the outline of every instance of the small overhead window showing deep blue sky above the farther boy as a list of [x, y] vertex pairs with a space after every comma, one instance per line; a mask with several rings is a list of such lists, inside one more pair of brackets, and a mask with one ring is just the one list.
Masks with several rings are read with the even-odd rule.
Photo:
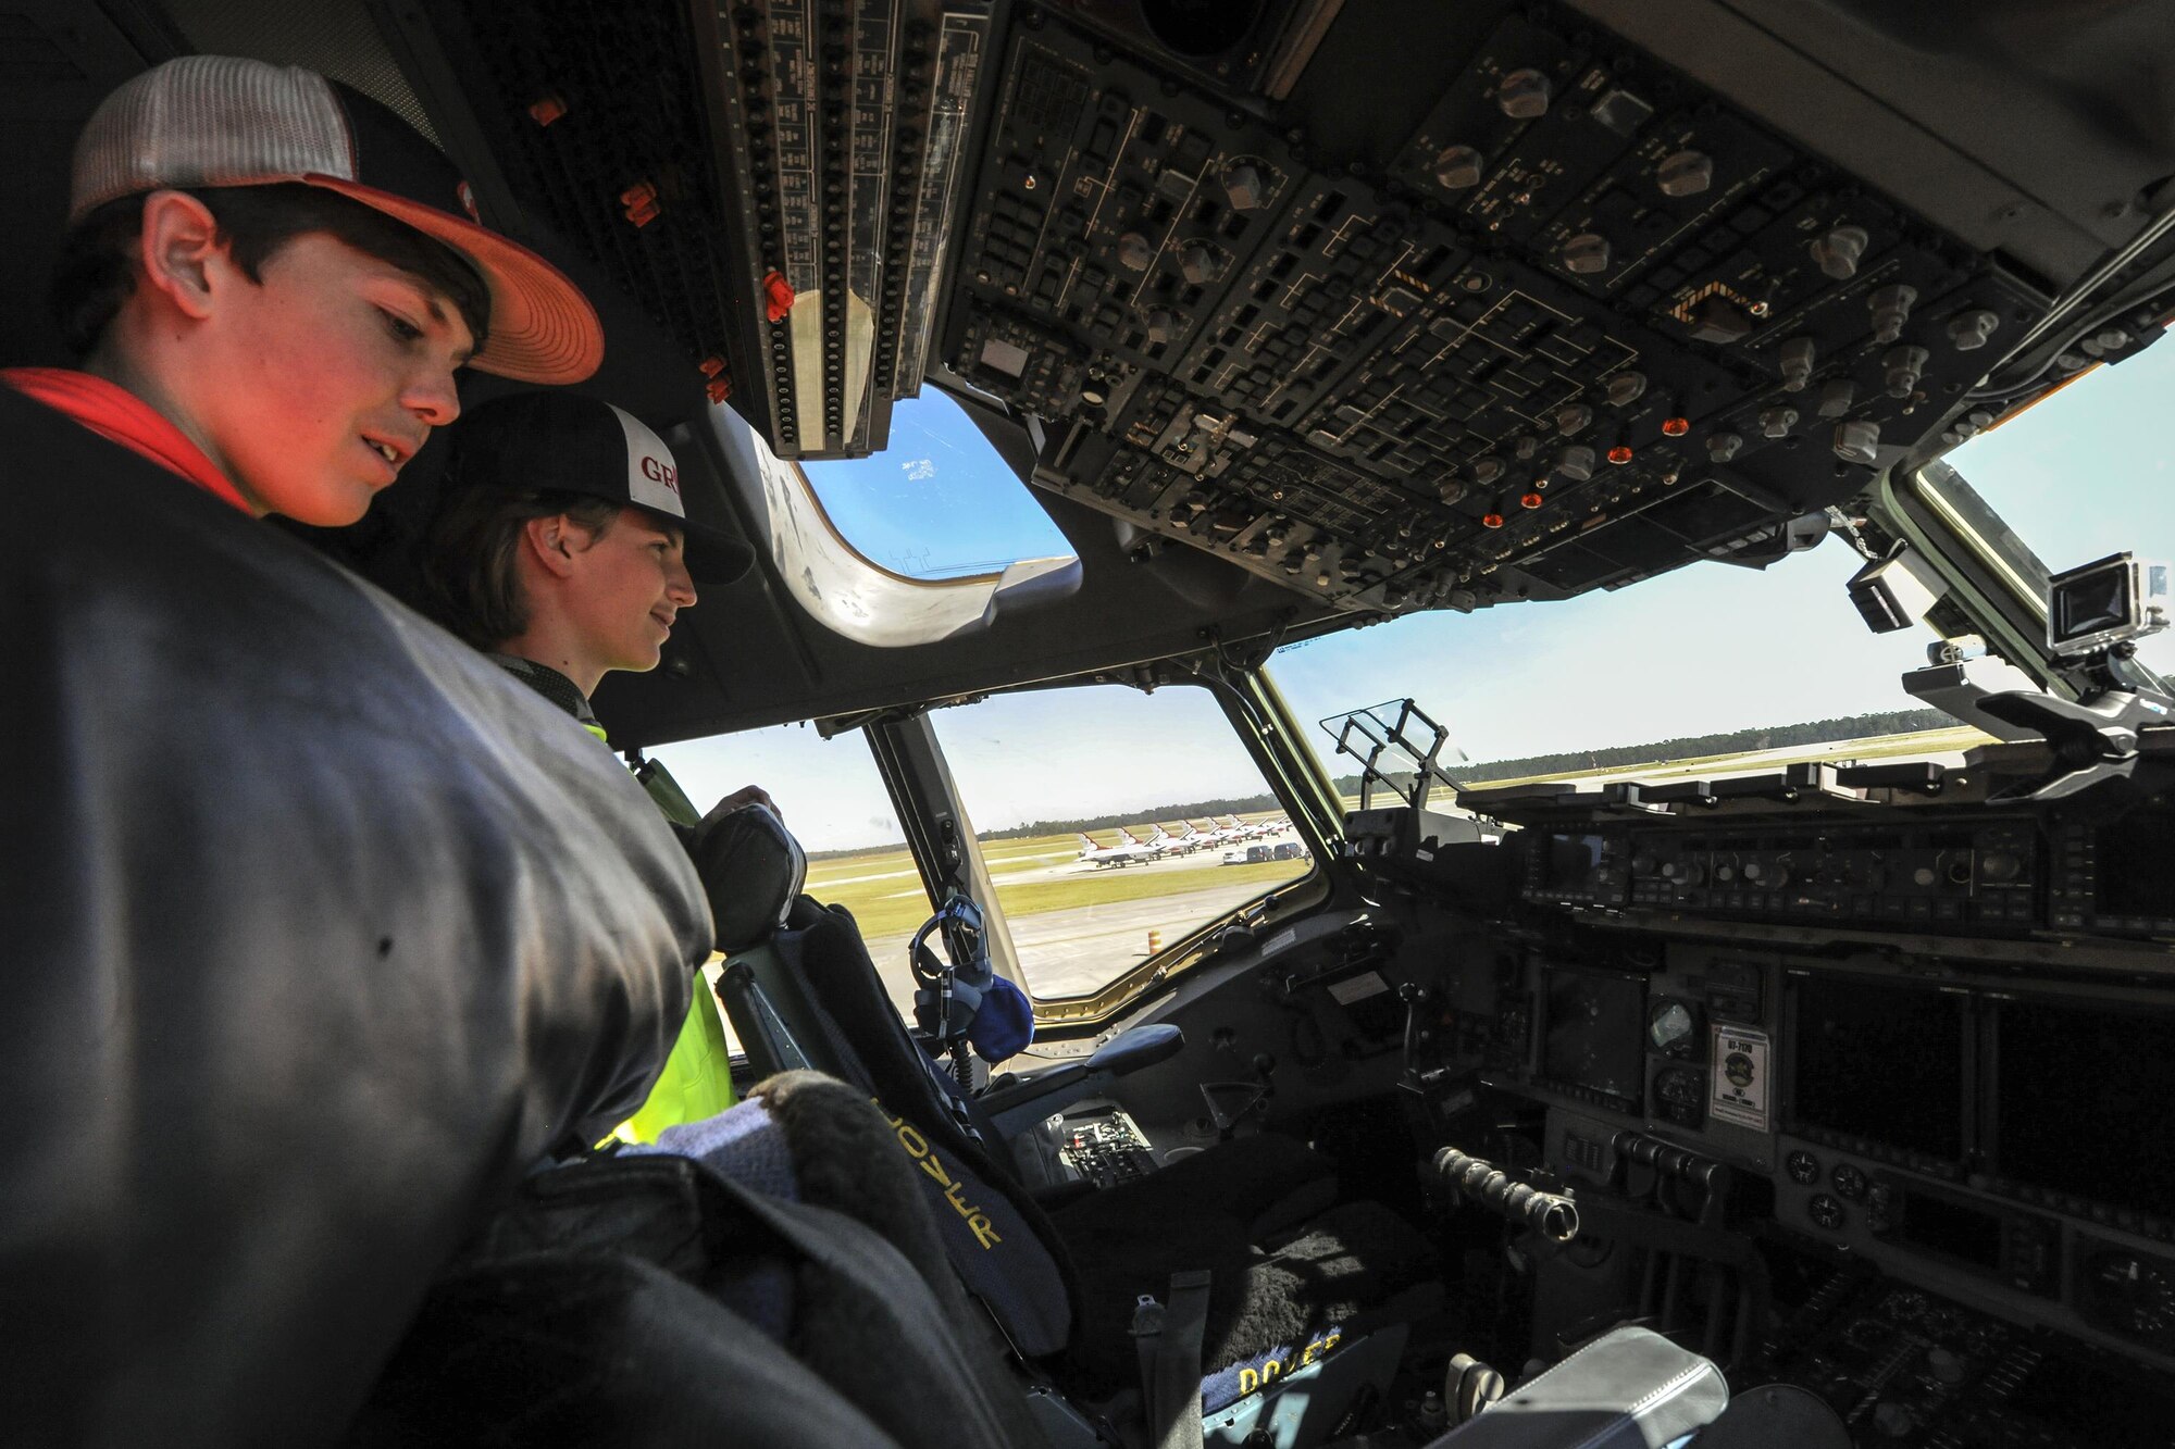
[[846, 542], [907, 579], [996, 574], [1020, 559], [1072, 555], [981, 429], [935, 387], [892, 409], [883, 453], [800, 470]]

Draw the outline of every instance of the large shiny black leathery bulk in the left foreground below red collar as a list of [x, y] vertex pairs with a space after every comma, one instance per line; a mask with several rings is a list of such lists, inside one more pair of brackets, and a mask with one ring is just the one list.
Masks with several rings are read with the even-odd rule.
[[594, 738], [0, 385], [0, 1438], [339, 1434], [709, 912]]

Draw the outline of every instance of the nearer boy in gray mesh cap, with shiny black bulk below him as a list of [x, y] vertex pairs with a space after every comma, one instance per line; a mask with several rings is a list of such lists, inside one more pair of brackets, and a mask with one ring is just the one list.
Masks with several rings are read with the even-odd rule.
[[76, 148], [83, 370], [0, 374], [0, 1423], [322, 1442], [483, 1208], [648, 1092], [685, 853], [529, 690], [252, 522], [352, 522], [596, 313], [383, 107], [187, 57]]

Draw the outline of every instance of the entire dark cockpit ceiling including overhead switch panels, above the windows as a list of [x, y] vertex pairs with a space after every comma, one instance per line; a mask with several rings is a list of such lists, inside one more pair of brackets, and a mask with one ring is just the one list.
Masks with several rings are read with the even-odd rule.
[[[681, 424], [698, 513], [761, 531], [705, 392], [846, 457], [937, 385], [1081, 559], [883, 648], [772, 553], [607, 690], [622, 742], [1757, 566], [2012, 405], [1966, 392], [2175, 200], [2151, 0], [4, 11], [11, 257], [50, 252], [65, 137], [135, 65], [318, 65], [598, 298], [589, 389]], [[50, 357], [30, 289], [0, 322]], [[335, 546], [383, 568], [411, 472]]]

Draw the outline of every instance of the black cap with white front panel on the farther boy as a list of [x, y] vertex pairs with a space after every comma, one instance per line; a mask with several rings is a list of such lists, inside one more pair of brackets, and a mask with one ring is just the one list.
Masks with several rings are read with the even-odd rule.
[[450, 487], [579, 494], [646, 509], [685, 535], [696, 583], [731, 583], [755, 561], [737, 535], [687, 518], [672, 448], [600, 398], [524, 392], [461, 413], [448, 479]]

